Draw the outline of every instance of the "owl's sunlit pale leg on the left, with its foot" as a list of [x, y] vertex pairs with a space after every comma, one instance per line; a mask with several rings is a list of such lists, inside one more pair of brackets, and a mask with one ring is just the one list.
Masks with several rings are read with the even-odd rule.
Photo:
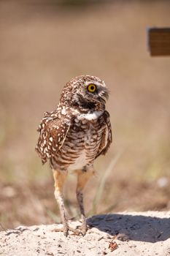
[[[53, 170], [53, 176], [54, 176], [54, 181], [55, 181], [54, 195], [55, 195], [55, 199], [58, 202], [58, 206], [59, 206], [59, 209], [61, 212], [61, 219], [63, 222], [62, 230], [63, 230], [64, 235], [67, 236], [69, 228], [68, 228], [68, 223], [67, 223], [67, 219], [66, 219], [66, 210], [65, 210], [64, 203], [63, 203], [63, 184], [64, 184], [64, 181], [66, 180], [67, 173], [64, 171], [62, 172], [60, 170]], [[55, 231], [61, 231], [61, 229], [60, 230], [55, 229]]]

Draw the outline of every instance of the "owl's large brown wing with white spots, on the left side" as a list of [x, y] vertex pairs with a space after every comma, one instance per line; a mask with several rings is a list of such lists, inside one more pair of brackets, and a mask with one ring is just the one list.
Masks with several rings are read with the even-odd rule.
[[58, 116], [55, 111], [45, 113], [37, 129], [39, 139], [36, 145], [36, 152], [43, 164], [63, 146], [71, 124], [70, 116]]

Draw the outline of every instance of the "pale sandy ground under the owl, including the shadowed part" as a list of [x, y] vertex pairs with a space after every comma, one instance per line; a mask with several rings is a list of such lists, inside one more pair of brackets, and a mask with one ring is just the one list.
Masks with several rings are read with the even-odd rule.
[[97, 215], [88, 225], [84, 237], [52, 232], [56, 225], [2, 231], [0, 255], [170, 255], [170, 211]]

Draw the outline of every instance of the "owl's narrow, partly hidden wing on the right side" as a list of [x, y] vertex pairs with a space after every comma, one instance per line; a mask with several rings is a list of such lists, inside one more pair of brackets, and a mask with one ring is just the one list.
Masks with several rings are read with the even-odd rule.
[[109, 113], [107, 110], [104, 111], [104, 122], [105, 122], [105, 129], [101, 135], [101, 143], [98, 148], [98, 152], [96, 154], [96, 158], [101, 154], [106, 154], [110, 144], [112, 143], [112, 126], [109, 120]]

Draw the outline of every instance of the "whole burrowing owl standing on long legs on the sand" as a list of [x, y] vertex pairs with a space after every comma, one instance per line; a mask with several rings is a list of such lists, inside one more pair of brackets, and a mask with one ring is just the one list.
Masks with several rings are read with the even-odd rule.
[[[105, 103], [109, 92], [104, 81], [90, 75], [73, 78], [64, 86], [58, 107], [46, 112], [39, 125], [36, 151], [44, 164], [49, 160], [55, 179], [55, 198], [61, 211], [63, 230], [85, 234], [87, 230], [82, 191], [95, 173], [93, 162], [112, 143], [112, 129]], [[73, 230], [66, 219], [63, 184], [69, 171], [77, 173], [77, 201], [82, 226]]]

